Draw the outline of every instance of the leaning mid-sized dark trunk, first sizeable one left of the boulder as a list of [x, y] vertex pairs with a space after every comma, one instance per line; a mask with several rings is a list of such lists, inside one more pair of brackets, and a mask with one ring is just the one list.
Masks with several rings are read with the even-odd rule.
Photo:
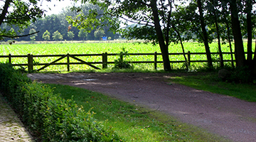
[[197, 1], [198, 3], [198, 9], [199, 9], [199, 13], [200, 13], [200, 22], [201, 22], [201, 28], [203, 31], [203, 43], [205, 45], [206, 48], [206, 56], [207, 56], [207, 62], [208, 62], [208, 67], [213, 67], [213, 61], [211, 59], [210, 56], [210, 47], [208, 44], [208, 34], [206, 31], [206, 24], [204, 23], [204, 18], [203, 18], [203, 8], [202, 8], [202, 3], [201, 0]]

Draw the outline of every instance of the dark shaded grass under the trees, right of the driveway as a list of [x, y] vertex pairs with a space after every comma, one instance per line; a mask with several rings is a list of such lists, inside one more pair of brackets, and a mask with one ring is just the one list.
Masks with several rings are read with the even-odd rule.
[[170, 81], [208, 92], [225, 94], [247, 102], [256, 102], [256, 84], [223, 82], [218, 79], [217, 72], [206, 74], [197, 72], [194, 75], [172, 77]]

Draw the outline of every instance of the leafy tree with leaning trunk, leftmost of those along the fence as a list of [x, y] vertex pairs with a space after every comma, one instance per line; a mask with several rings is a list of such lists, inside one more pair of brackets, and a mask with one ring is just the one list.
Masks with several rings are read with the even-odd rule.
[[[105, 12], [98, 14], [97, 9], [91, 9], [87, 14], [80, 13], [78, 16], [68, 18], [68, 21], [78, 28], [91, 31], [94, 27], [110, 26], [110, 30], [122, 33], [124, 37], [131, 39], [144, 39], [146, 42], [158, 43], [164, 61], [164, 70], [171, 70], [169, 61], [169, 31], [171, 29], [171, 10], [174, 1], [169, 0], [131, 0], [131, 1], [90, 1], [97, 4]], [[73, 10], [79, 11], [80, 7]], [[122, 18], [123, 21], [119, 21]], [[106, 22], [107, 21], [107, 22]], [[120, 24], [137, 23], [138, 26], [129, 28], [129, 31], [120, 28]], [[129, 33], [127, 33], [129, 32]]]

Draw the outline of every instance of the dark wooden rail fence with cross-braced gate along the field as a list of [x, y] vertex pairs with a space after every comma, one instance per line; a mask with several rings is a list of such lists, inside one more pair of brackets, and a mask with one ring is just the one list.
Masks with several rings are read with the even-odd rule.
[[[218, 53], [211, 53], [212, 55], [218, 55]], [[231, 53], [223, 53], [225, 54], [231, 54]], [[234, 53], [232, 53], [234, 54]], [[28, 66], [28, 71], [31, 72], [33, 71], [33, 67], [35, 65], [43, 65], [43, 67], [39, 68], [36, 71], [40, 71], [45, 69], [46, 67], [50, 65], [67, 65], [67, 70], [70, 71], [70, 65], [80, 65], [80, 64], [85, 64], [89, 65], [90, 67], [93, 67], [97, 70], [100, 70], [99, 67], [96, 67], [93, 64], [102, 64], [102, 68], [107, 68], [108, 64], [114, 64], [114, 61], [107, 61], [107, 58], [109, 56], [117, 56], [119, 54], [117, 53], [102, 53], [102, 54], [67, 54], [67, 55], [0, 55], [0, 58], [8, 58], [8, 62], [12, 64], [11, 59], [12, 58], [27, 58], [28, 62], [23, 63], [23, 64], [12, 64], [14, 66]], [[163, 63], [163, 61], [157, 60], [157, 56], [161, 55], [161, 53], [129, 53], [130, 56], [133, 55], [152, 55], [154, 56], [154, 60], [151, 61], [127, 61], [130, 63], [154, 63], [154, 69], [156, 70], [157, 64], [158, 63]], [[190, 65], [191, 62], [207, 62], [207, 60], [191, 60], [191, 55], [206, 55], [206, 53], [169, 53], [169, 55], [186, 55], [187, 61], [186, 60], [171, 60], [171, 63], [178, 63], [178, 62], [188, 62], [188, 65]], [[78, 57], [82, 56], [102, 56], [102, 61], [101, 62], [86, 62], [85, 60], [81, 60]], [[57, 60], [54, 60], [53, 62], [46, 62], [46, 63], [33, 63], [33, 58], [47, 58], [47, 57], [60, 57]], [[67, 58], [67, 62], [58, 62], [59, 60], [63, 60], [64, 58]], [[79, 62], [70, 62], [70, 58], [73, 58]], [[121, 57], [122, 60], [122, 57]], [[218, 60], [213, 60], [213, 62], [219, 62]], [[223, 60], [223, 62], [233, 62], [232, 60]]]

